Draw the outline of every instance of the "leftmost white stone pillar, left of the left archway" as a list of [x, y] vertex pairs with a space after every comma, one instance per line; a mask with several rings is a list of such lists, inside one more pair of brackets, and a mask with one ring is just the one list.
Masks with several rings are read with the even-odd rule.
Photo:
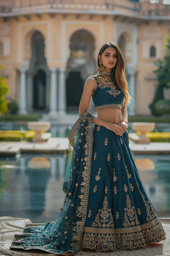
[[20, 71], [20, 90], [19, 90], [19, 114], [26, 115], [27, 112], [27, 89], [26, 89], [26, 71], [28, 66], [21, 66]]

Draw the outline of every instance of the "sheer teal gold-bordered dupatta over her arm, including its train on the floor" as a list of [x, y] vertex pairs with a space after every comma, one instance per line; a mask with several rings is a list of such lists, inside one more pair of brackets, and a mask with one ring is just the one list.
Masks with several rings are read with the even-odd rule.
[[66, 196], [58, 219], [14, 234], [11, 249], [39, 249], [62, 255], [74, 255], [81, 250], [89, 193], [93, 118], [89, 111], [84, 111], [69, 132], [69, 157], [62, 186]]

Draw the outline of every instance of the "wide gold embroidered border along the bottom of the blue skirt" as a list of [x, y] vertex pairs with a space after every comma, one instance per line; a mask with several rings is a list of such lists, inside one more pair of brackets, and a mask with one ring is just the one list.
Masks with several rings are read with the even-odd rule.
[[166, 239], [158, 217], [153, 221], [130, 228], [100, 229], [85, 227], [81, 248], [101, 251], [145, 248]]

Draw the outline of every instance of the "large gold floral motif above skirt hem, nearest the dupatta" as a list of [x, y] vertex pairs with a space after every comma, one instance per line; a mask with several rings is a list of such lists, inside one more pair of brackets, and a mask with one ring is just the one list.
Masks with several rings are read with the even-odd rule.
[[[92, 224], [91, 224], [92, 227], [99, 226], [99, 228], [100, 227], [114, 228], [113, 215], [111, 213], [111, 209], [108, 209], [107, 206], [108, 206], [108, 202], [107, 202], [107, 197], [105, 196], [104, 201], [103, 201], [103, 208], [99, 209], [99, 212], [96, 215], [95, 221], [92, 222]], [[99, 215], [101, 216], [101, 219], [99, 219]], [[110, 219], [110, 221], [108, 218]]]

